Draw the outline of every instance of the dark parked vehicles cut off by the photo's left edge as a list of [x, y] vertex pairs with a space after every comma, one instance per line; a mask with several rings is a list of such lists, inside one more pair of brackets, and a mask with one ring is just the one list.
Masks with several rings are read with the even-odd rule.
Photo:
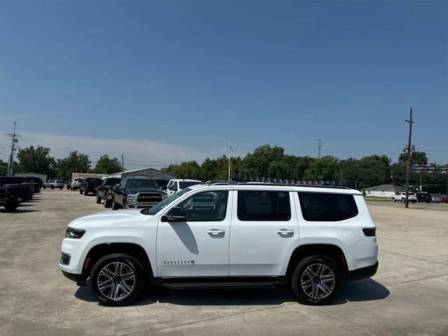
[[37, 177], [0, 176], [0, 207], [14, 211], [22, 202], [32, 200], [42, 187], [43, 182]]

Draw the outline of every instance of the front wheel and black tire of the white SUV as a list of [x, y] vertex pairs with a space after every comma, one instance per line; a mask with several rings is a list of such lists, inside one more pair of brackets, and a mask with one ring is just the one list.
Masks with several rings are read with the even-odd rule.
[[145, 272], [139, 260], [132, 255], [109, 254], [95, 262], [90, 273], [90, 285], [100, 302], [108, 306], [123, 306], [136, 300], [143, 292]]

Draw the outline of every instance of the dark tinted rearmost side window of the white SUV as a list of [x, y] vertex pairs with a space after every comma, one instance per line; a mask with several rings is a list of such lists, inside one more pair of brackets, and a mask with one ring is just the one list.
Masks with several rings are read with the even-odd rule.
[[353, 195], [299, 192], [299, 200], [305, 221], [344, 221], [358, 215]]

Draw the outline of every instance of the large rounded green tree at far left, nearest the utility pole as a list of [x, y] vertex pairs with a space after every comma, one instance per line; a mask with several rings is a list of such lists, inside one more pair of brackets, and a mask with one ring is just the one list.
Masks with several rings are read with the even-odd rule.
[[18, 151], [19, 172], [40, 173], [55, 176], [56, 160], [50, 156], [50, 148], [29, 146]]

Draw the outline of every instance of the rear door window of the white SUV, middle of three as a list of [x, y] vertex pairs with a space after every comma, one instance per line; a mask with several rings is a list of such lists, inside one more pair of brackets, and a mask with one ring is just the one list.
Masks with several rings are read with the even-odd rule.
[[289, 221], [289, 193], [283, 191], [238, 191], [240, 221]]

